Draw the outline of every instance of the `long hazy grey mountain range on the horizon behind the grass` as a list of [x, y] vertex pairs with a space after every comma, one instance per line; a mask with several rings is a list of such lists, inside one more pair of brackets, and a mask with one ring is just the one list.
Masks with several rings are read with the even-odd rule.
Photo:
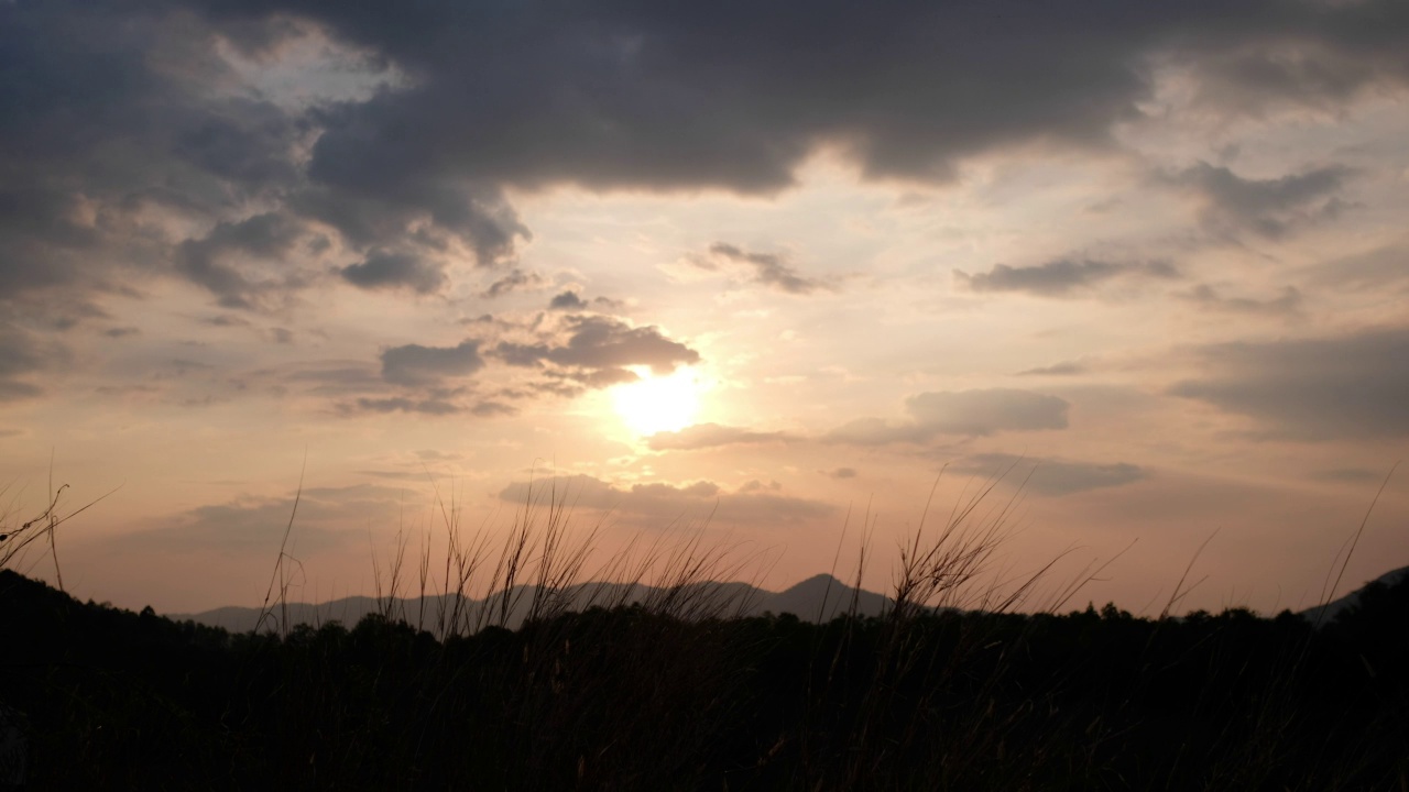
[[[809, 578], [786, 590], [769, 592], [741, 582], [690, 583], [678, 589], [623, 583], [578, 583], [558, 592], [544, 607], [552, 610], [586, 610], [592, 606], [613, 607], [617, 605], [647, 605], [654, 609], [682, 616], [759, 616], [762, 613], [792, 613], [806, 621], [828, 621], [847, 613], [852, 600], [859, 616], [879, 616], [892, 603], [890, 598], [875, 592], [854, 589], [831, 575]], [[390, 610], [395, 619], [440, 631], [442, 621], [458, 619], [461, 624], [499, 624], [517, 629], [531, 616], [534, 586], [520, 585], [499, 592], [488, 599], [458, 600], [449, 596], [399, 598], [378, 600], [369, 596], [349, 596], [325, 603], [289, 603], [273, 609], [273, 621], [265, 620], [266, 629], [278, 629], [282, 620], [287, 626], [325, 624], [341, 621], [352, 626], [369, 613]], [[258, 607], [227, 606], [201, 613], [170, 613], [169, 619], [192, 620], [213, 627], [224, 627], [232, 633], [254, 630], [259, 621]], [[507, 616], [507, 617], [504, 617]], [[461, 630], [465, 631], [465, 630]]]

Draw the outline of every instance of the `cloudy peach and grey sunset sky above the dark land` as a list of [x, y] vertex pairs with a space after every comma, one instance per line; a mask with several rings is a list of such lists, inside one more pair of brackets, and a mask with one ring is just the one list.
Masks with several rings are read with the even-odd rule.
[[6, 524], [159, 612], [545, 490], [879, 590], [991, 486], [995, 585], [1308, 607], [1409, 565], [1406, 99], [1402, 0], [4, 0]]

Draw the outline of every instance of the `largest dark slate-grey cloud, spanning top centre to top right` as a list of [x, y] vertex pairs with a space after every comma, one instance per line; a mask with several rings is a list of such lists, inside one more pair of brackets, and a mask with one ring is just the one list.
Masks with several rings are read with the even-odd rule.
[[448, 172], [759, 192], [789, 185], [819, 142], [847, 147], [871, 175], [944, 178], [955, 159], [1014, 142], [1107, 144], [1150, 96], [1155, 55], [1274, 62], [1295, 44], [1312, 66], [1364, 66], [1334, 80], [1284, 69], [1281, 93], [1308, 101], [1409, 72], [1396, 0], [204, 6], [316, 18], [413, 78], [331, 124], [313, 159], [330, 183]]

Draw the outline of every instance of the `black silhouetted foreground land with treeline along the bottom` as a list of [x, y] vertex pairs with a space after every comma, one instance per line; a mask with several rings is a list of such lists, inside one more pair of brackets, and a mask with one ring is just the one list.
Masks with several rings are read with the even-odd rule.
[[0, 572], [31, 789], [1409, 789], [1409, 582], [1284, 613], [228, 634]]

